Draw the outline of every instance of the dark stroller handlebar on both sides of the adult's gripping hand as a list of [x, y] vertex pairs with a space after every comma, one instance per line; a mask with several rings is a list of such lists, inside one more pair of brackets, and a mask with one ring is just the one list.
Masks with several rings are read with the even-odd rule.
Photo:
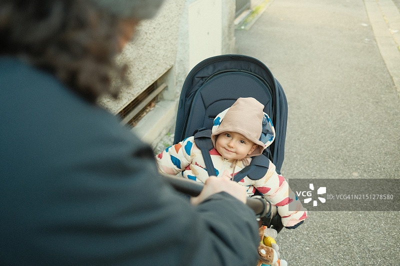
[[[164, 180], [169, 183], [176, 191], [189, 196], [198, 196], [200, 194], [203, 184], [188, 179], [177, 178], [172, 175], [162, 175]], [[267, 202], [264, 198], [260, 196], [248, 197], [246, 205], [252, 209], [257, 216], [257, 218], [270, 216], [274, 217], [277, 215], [277, 208]]]

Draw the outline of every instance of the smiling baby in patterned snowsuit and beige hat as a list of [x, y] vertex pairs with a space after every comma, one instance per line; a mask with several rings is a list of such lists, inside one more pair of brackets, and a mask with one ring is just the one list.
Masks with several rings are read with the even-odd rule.
[[[213, 148], [209, 151], [210, 158], [218, 178], [238, 182], [247, 191], [247, 196], [252, 196], [257, 191], [277, 207], [282, 225], [287, 229], [294, 229], [307, 218], [307, 211], [290, 190], [285, 179], [276, 173], [271, 161], [262, 177], [255, 180], [248, 176], [234, 179], [235, 175], [249, 165], [254, 156], [261, 155], [275, 138], [274, 127], [263, 108], [264, 106], [254, 98], [238, 98], [231, 107], [219, 113], [211, 130]], [[209, 177], [205, 158], [197, 147], [194, 136], [166, 148], [155, 159], [163, 173], [181, 175], [202, 183]], [[261, 246], [262, 236], [259, 252], [263, 251]], [[277, 245], [272, 248], [276, 252], [279, 249]], [[258, 265], [265, 264], [259, 261]]]

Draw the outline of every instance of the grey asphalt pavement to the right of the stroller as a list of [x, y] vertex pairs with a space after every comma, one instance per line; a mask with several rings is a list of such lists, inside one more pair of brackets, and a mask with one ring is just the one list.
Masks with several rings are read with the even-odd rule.
[[[236, 52], [261, 60], [285, 91], [282, 175], [289, 184], [400, 178], [400, 69], [397, 57], [388, 59], [393, 65], [382, 52], [395, 51], [395, 42], [381, 41], [387, 32], [374, 27], [371, 15], [388, 9], [374, 10], [368, 1], [272, 0], [248, 30], [235, 32]], [[395, 14], [399, 2], [390, 1], [378, 2], [392, 3]], [[383, 30], [395, 36], [400, 16], [390, 19]], [[394, 266], [399, 223], [398, 211], [311, 211], [298, 229], [282, 230], [277, 243], [292, 266]]]

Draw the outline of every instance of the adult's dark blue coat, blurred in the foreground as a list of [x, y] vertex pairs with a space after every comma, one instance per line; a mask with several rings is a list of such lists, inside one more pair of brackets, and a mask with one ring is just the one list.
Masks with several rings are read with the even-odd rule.
[[0, 57], [0, 265], [255, 265], [253, 212], [192, 207], [153, 153], [52, 75]]

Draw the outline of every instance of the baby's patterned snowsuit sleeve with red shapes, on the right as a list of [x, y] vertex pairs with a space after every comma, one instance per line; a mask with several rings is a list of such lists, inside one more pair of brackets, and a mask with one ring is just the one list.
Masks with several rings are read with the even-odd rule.
[[276, 205], [284, 227], [295, 228], [307, 218], [307, 210], [291, 191], [284, 177], [276, 173], [271, 162], [265, 176], [259, 179], [254, 187], [265, 199]]

